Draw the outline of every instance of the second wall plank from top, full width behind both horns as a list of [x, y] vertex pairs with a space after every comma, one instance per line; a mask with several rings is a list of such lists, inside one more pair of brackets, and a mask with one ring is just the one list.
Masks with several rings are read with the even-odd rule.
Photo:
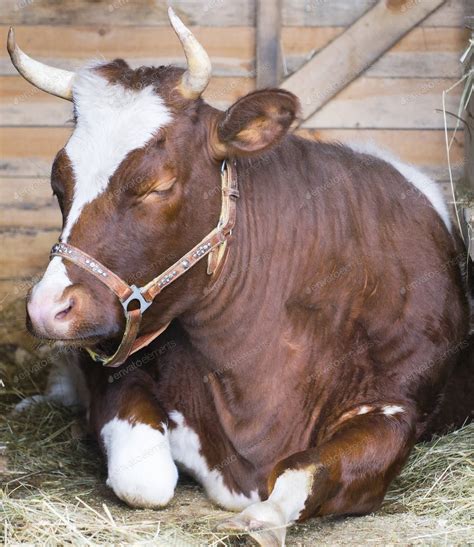
[[[0, 27], [0, 35], [7, 33]], [[213, 62], [214, 77], [254, 75], [255, 30], [194, 28]], [[344, 31], [344, 27], [282, 28], [282, 48], [289, 73], [294, 72]], [[22, 47], [39, 60], [75, 70], [89, 59], [123, 57], [140, 65], [183, 65], [184, 57], [174, 33], [160, 30], [157, 50], [153, 27], [20, 26]], [[469, 32], [462, 27], [417, 27], [393, 46], [366, 72], [375, 77], [457, 77], [459, 53]], [[5, 48], [0, 49], [0, 75], [16, 75]]]

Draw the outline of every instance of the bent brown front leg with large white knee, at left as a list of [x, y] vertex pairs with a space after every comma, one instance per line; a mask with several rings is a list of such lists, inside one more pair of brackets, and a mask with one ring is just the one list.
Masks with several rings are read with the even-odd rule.
[[94, 390], [90, 421], [107, 457], [107, 485], [132, 507], [165, 506], [178, 471], [152, 379], [140, 371], [130, 378], [111, 373], [102, 389]]

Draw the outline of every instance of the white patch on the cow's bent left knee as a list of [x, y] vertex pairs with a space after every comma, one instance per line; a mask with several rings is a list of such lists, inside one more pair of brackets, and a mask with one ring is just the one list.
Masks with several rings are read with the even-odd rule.
[[114, 418], [102, 428], [107, 453], [107, 485], [132, 507], [163, 507], [172, 499], [178, 470], [168, 431]]

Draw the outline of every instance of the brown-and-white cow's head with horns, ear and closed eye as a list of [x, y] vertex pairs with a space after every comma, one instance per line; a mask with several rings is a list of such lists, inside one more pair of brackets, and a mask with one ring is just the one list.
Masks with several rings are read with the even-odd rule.
[[[217, 223], [220, 162], [258, 154], [285, 134], [297, 100], [282, 90], [251, 93], [226, 112], [200, 95], [209, 58], [170, 13], [188, 68], [131, 69], [122, 60], [78, 73], [26, 56], [9, 35], [19, 72], [74, 104], [74, 131], [55, 160], [51, 186], [63, 215], [60, 240], [102, 262], [128, 283], [145, 284], [188, 252]], [[144, 316], [154, 330], [202, 298], [204, 261], [168, 287]], [[117, 298], [74, 264], [54, 257], [28, 296], [36, 335], [91, 344], [124, 326]]]

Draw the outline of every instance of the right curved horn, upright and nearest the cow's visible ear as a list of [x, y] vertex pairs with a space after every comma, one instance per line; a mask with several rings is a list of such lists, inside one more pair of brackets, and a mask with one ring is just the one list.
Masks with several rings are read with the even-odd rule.
[[168, 8], [168, 17], [183, 46], [188, 61], [188, 69], [181, 80], [181, 93], [188, 99], [197, 99], [206, 89], [211, 79], [211, 61], [206, 50], [171, 7]]

